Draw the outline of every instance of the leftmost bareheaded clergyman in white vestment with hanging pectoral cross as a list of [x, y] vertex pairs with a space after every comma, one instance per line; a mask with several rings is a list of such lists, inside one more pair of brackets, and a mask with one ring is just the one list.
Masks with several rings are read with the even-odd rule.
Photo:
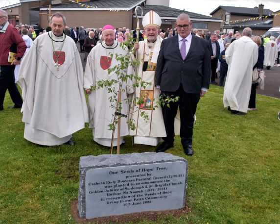
[[24, 138], [43, 146], [74, 145], [72, 133], [88, 122], [81, 58], [65, 25], [54, 13], [52, 30], [35, 39], [19, 71]]

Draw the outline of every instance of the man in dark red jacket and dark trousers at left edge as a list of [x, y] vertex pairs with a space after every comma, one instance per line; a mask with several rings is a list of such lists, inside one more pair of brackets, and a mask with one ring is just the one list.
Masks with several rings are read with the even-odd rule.
[[15, 66], [20, 64], [26, 48], [18, 30], [9, 24], [7, 12], [0, 10], [0, 111], [3, 110], [7, 89], [14, 102], [10, 108], [22, 107], [23, 100], [15, 84], [14, 71]]

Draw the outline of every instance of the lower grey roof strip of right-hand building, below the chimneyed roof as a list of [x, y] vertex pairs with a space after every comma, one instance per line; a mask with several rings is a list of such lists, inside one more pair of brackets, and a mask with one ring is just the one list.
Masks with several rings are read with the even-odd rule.
[[251, 29], [270, 29], [272, 27], [273, 20], [267, 20], [267, 21], [245, 21], [240, 23], [235, 23], [231, 25], [225, 25], [225, 29], [232, 29], [236, 27], [250, 27]]

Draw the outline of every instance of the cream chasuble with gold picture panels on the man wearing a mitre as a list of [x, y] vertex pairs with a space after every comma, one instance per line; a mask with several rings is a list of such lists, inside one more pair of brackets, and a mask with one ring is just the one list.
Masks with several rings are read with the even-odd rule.
[[[139, 42], [138, 76], [141, 77], [141, 81], [150, 82], [151, 85], [146, 86], [146, 88], [141, 86], [136, 88], [135, 94], [141, 103], [133, 106], [134, 113], [131, 115], [136, 129], [130, 130], [130, 135], [134, 136], [135, 144], [156, 146], [161, 138], [166, 136], [162, 107], [157, 104], [160, 90], [155, 87], [156, 63], [161, 42], [162, 39], [159, 36], [154, 43], [149, 43], [147, 40]], [[153, 110], [155, 106], [157, 107]], [[140, 116], [141, 112], [146, 113], [147, 120]]]

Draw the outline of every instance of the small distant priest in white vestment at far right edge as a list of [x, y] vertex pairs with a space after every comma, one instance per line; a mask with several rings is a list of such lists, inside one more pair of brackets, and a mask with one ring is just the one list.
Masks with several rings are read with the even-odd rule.
[[263, 65], [266, 66], [267, 70], [272, 68], [275, 64], [278, 55], [277, 43], [275, 37], [271, 36], [270, 41], [264, 46], [264, 61]]

